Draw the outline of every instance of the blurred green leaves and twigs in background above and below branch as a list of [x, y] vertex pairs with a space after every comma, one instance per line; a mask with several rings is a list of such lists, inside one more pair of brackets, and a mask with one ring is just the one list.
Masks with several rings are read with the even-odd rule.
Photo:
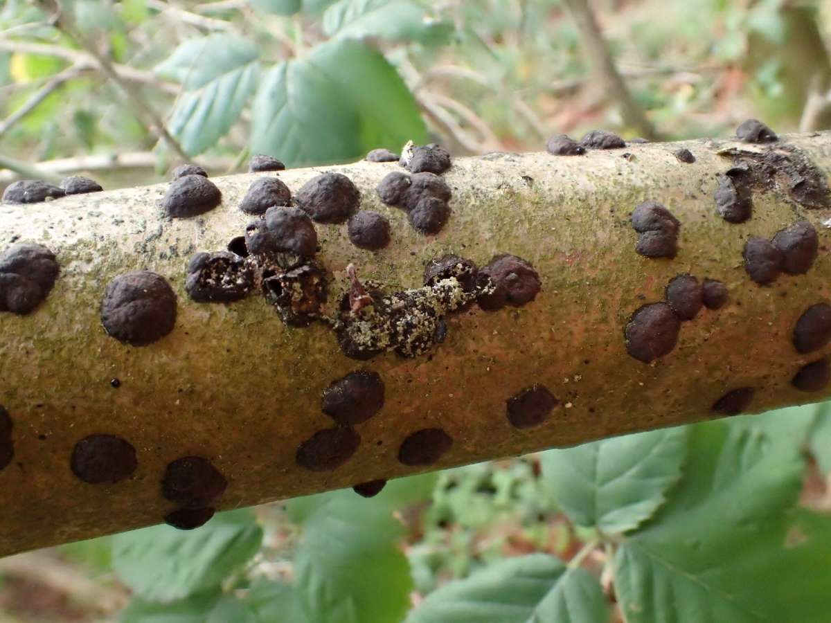
[[[0, 0], [0, 189], [76, 172], [150, 184], [183, 159], [224, 174], [253, 153], [335, 163], [406, 140], [476, 155], [595, 127], [672, 140], [748, 116], [831, 123], [829, 2], [61, 6]], [[576, 26], [585, 11], [602, 40]], [[8, 557], [0, 619], [827, 623], [829, 414], [628, 435]]]

